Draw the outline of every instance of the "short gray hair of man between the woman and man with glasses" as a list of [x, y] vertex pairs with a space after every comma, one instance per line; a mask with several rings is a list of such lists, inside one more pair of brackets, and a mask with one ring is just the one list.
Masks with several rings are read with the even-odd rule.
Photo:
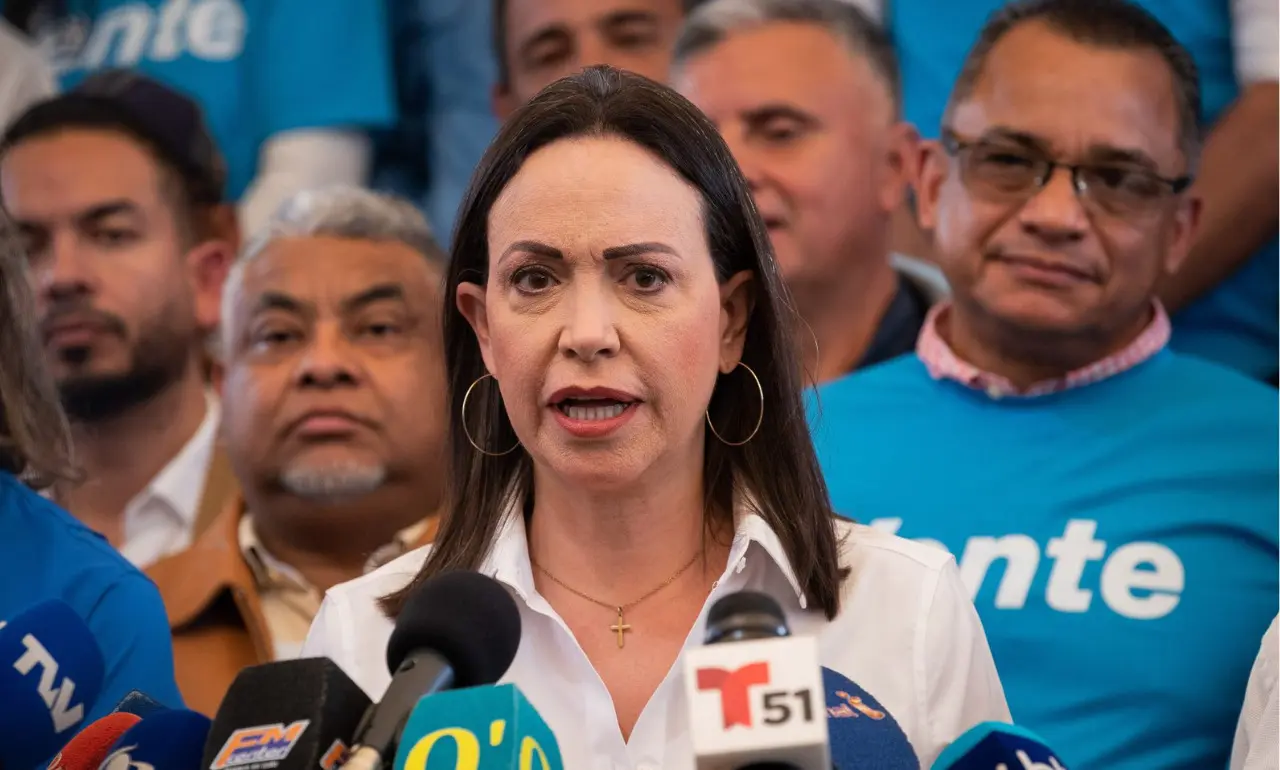
[[[500, 1], [500, 0], [499, 0]], [[709, 0], [690, 8], [676, 38], [675, 63], [714, 47], [735, 32], [777, 22], [796, 22], [822, 27], [855, 56], [865, 59], [884, 83], [893, 102], [901, 106], [901, 83], [893, 43], [884, 29], [861, 9], [844, 0]]]

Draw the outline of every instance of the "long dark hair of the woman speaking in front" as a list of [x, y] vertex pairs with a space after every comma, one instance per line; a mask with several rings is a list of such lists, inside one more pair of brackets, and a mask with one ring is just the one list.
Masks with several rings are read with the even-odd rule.
[[[581, 136], [616, 136], [660, 157], [701, 193], [707, 240], [717, 278], [742, 270], [755, 275], [755, 302], [742, 362], [760, 379], [764, 416], [742, 446], [708, 434], [704, 453], [705, 517], [732, 515], [735, 491], [749, 491], [777, 533], [808, 602], [828, 618], [840, 609], [835, 514], [809, 440], [794, 353], [795, 310], [778, 276], [769, 239], [746, 180], [716, 127], [686, 98], [640, 75], [593, 67], [547, 87], [503, 127], [471, 179], [453, 237], [444, 310], [449, 375], [452, 503], [419, 576], [383, 599], [397, 615], [406, 597], [431, 576], [477, 569], [498, 532], [512, 494], [532, 495], [532, 462], [524, 449], [503, 457], [477, 453], [462, 425], [467, 388], [486, 373], [475, 333], [453, 298], [463, 281], [484, 285], [489, 275], [489, 210], [532, 152]], [[500, 452], [518, 440], [492, 381], [467, 404], [467, 428], [485, 448]], [[721, 435], [739, 440], [760, 413], [755, 382], [744, 371], [721, 376], [709, 407]], [[705, 431], [704, 431], [705, 432]], [[735, 490], [735, 485], [740, 485]]]

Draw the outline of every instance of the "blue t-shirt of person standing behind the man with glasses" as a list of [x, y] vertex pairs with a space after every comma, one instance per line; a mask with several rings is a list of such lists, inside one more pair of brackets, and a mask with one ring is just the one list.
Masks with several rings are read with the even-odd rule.
[[[1228, 0], [1135, 0], [1196, 59], [1206, 125], [1240, 87]], [[942, 110], [969, 47], [1004, 0], [888, 0], [887, 26], [902, 70], [902, 110], [925, 137], [937, 137]], [[1280, 242], [1272, 239], [1216, 289], [1174, 316], [1172, 347], [1251, 377], [1276, 373], [1280, 345]]]

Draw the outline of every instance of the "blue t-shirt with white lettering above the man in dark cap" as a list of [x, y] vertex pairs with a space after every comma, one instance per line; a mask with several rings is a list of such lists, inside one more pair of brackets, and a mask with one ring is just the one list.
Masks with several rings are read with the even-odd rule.
[[227, 159], [229, 200], [262, 142], [396, 116], [384, 0], [64, 0], [36, 31], [64, 88], [137, 68], [193, 97]]

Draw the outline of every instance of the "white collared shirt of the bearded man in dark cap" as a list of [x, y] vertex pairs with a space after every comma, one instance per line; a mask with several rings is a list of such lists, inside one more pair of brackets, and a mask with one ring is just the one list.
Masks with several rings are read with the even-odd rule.
[[120, 554], [145, 569], [191, 545], [218, 440], [219, 404], [209, 395], [205, 418], [151, 482], [124, 507]]

